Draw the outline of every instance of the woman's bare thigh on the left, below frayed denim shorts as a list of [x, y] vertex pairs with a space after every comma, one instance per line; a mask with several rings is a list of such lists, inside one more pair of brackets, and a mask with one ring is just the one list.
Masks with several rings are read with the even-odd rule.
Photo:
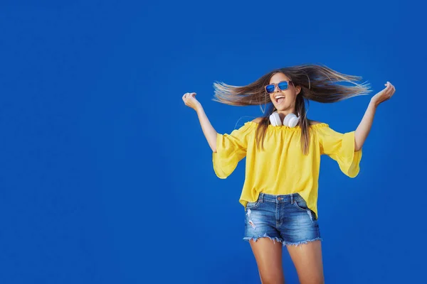
[[285, 283], [282, 267], [282, 243], [268, 238], [249, 241], [258, 265], [261, 283]]

